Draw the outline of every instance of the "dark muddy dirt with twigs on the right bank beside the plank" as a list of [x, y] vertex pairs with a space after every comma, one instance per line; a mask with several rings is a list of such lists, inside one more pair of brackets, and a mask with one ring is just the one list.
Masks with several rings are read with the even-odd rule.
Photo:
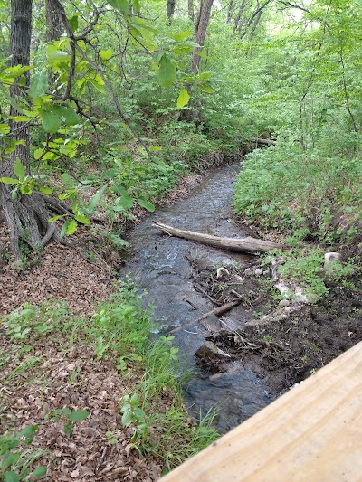
[[[222, 329], [207, 339], [231, 354], [231, 360], [239, 359], [257, 373], [268, 385], [271, 398], [362, 340], [362, 283], [357, 274], [348, 279], [354, 288], [341, 289], [329, 282], [326, 298], [315, 305], [295, 303], [295, 310], [281, 317], [278, 301], [266, 288], [271, 280], [243, 278], [243, 271], [233, 266], [226, 269], [229, 276], [217, 279], [214, 271], [195, 266], [195, 286], [201, 286], [219, 305], [239, 298], [244, 320], [249, 321], [240, 329], [229, 329], [222, 323]], [[202, 358], [199, 363], [209, 373], [217, 373], [227, 369], [228, 361], [215, 356]]]

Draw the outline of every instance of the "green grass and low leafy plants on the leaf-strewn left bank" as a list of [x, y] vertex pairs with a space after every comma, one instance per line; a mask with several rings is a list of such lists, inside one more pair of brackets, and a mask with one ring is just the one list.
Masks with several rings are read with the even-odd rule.
[[[211, 426], [213, 413], [198, 423], [187, 415], [181, 381], [175, 374], [178, 350], [172, 344], [173, 337], [161, 336], [156, 342], [150, 340], [150, 313], [142, 309], [141, 295], [129, 282], [119, 282], [110, 300], [100, 303], [92, 317], [72, 317], [62, 302], [48, 302], [41, 307], [24, 304], [4, 317], [1, 326], [11, 348], [0, 352], [0, 364], [6, 364], [10, 356], [15, 365], [3, 380], [5, 386], [10, 383], [46, 386], [43, 354], [39, 353], [42, 344], [38, 345], [44, 339], [57, 345], [64, 356], [84, 346], [90, 358], [100, 364], [107, 361], [117, 365], [119, 376], [133, 381], [132, 391], [124, 393], [119, 400], [122, 424], [125, 430], [133, 432], [130, 448], [142, 456], [161, 460], [166, 470], [176, 467], [217, 438]], [[77, 376], [78, 373], [71, 373], [69, 383]], [[82, 419], [80, 415], [84, 415]], [[59, 407], [46, 419], [61, 418], [68, 428], [65, 433], [70, 433], [73, 422], [84, 420], [85, 416], [88, 416], [86, 411], [72, 412], [67, 407]], [[4, 424], [2, 427], [4, 430]], [[32, 431], [32, 437], [26, 439], [32, 446], [37, 427], [27, 430]], [[26, 467], [15, 465], [15, 458], [24, 458], [24, 450], [32, 450], [17, 442], [24, 436], [20, 430], [8, 427], [0, 438], [0, 477], [5, 481], [13, 480], [7, 475], [10, 472], [23, 477], [14, 480], [25, 479], [31, 469], [35, 470], [32, 477], [43, 474], [43, 466], [36, 469], [33, 464], [38, 457]], [[111, 433], [105, 433], [104, 437], [112, 443]], [[13, 449], [17, 449], [14, 457], [11, 455]], [[39, 457], [44, 453], [42, 451]]]

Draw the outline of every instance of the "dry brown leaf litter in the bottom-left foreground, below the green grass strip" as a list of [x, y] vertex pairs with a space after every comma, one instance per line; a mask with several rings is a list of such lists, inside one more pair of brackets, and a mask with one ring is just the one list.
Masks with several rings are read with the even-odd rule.
[[[95, 360], [86, 346], [62, 354], [57, 343], [40, 341], [34, 353], [24, 355], [24, 359], [39, 356], [38, 363], [14, 376], [19, 360], [4, 333], [0, 343], [5, 353], [12, 354], [0, 375], [0, 433], [39, 426], [32, 447], [49, 450], [35, 463], [47, 467], [42, 480], [157, 480], [161, 468], [139, 458], [129, 441], [132, 433], [120, 423], [119, 403], [132, 383], [119, 376], [114, 364]], [[52, 415], [45, 420], [64, 407], [90, 412], [70, 435], [64, 433], [62, 421], [54, 421]], [[111, 432], [108, 437], [107, 432]]]

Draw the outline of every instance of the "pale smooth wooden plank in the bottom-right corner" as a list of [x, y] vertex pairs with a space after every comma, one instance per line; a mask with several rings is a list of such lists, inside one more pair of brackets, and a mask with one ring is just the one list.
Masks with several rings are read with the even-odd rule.
[[362, 342], [162, 482], [362, 481]]

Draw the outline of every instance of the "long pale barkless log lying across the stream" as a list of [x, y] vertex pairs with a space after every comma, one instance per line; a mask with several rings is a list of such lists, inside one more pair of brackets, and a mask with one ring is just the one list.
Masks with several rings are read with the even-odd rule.
[[162, 232], [167, 232], [170, 236], [177, 236], [191, 241], [204, 242], [224, 250], [241, 252], [267, 252], [270, 250], [282, 250], [283, 246], [277, 242], [262, 241], [247, 236], [246, 238], [220, 238], [203, 232], [184, 231], [167, 226], [161, 222], [154, 222], [153, 226]]

